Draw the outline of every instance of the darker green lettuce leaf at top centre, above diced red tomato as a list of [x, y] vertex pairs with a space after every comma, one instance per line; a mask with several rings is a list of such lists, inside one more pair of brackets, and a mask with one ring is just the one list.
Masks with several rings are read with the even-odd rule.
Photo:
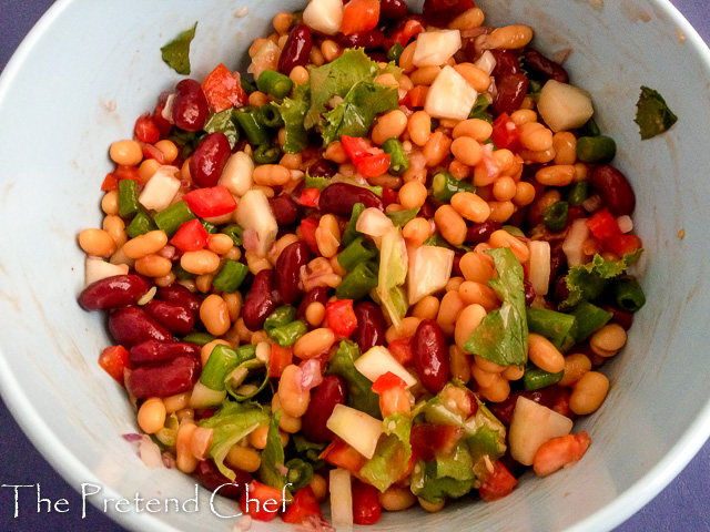
[[398, 99], [396, 86], [356, 83], [333, 111], [325, 113], [323, 144], [327, 146], [343, 135], [366, 136], [379, 113], [399, 108]]

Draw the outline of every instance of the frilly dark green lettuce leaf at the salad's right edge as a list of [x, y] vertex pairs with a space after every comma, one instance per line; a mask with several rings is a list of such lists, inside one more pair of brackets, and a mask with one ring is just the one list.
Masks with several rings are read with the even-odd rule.
[[608, 286], [608, 280], [623, 275], [629, 266], [636, 263], [642, 249], [627, 253], [618, 260], [605, 260], [601, 255], [594, 256], [591, 262], [570, 268], [567, 274], [569, 296], [559, 308], [570, 309], [581, 301], [594, 301]]

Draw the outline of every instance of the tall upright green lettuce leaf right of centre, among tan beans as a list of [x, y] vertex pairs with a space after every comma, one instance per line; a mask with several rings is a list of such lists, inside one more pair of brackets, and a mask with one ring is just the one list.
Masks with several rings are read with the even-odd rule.
[[487, 249], [498, 277], [488, 282], [503, 299], [464, 344], [464, 349], [500, 366], [523, 366], [528, 358], [528, 321], [523, 266], [507, 247]]

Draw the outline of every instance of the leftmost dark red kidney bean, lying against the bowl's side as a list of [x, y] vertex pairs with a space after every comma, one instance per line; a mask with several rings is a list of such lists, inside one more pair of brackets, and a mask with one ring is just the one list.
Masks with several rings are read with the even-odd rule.
[[108, 310], [138, 301], [151, 283], [140, 275], [114, 275], [94, 280], [79, 295], [79, 305], [84, 310]]

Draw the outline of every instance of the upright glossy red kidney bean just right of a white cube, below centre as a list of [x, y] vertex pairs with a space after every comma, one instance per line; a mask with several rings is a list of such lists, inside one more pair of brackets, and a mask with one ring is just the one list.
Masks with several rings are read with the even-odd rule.
[[432, 393], [440, 391], [448, 380], [449, 362], [444, 332], [435, 320], [422, 320], [412, 340], [412, 355], [422, 385]]

